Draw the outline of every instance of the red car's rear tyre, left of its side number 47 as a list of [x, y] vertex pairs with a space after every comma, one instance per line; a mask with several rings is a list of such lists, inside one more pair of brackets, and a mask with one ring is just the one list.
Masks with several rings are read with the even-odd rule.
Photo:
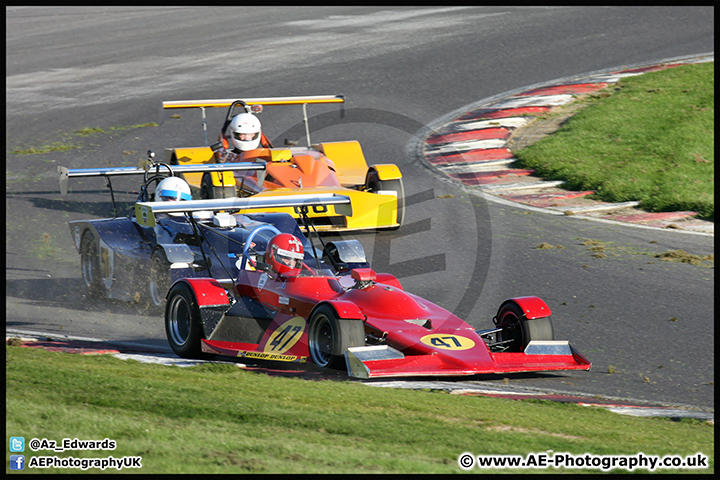
[[173, 351], [183, 358], [200, 358], [200, 308], [195, 294], [185, 283], [178, 283], [168, 294], [165, 306], [165, 333]]

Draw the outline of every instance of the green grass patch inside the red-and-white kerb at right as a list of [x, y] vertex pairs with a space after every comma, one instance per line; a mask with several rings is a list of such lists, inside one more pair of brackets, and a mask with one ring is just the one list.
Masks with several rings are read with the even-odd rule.
[[515, 152], [521, 164], [608, 202], [714, 219], [715, 64], [627, 77], [585, 100], [555, 134]]

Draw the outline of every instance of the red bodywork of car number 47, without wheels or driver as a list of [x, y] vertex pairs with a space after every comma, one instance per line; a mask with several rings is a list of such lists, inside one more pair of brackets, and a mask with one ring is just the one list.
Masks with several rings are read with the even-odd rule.
[[[263, 327], [264, 334], [257, 343], [253, 343], [233, 341], [222, 338], [216, 332], [206, 331], [202, 349], [209, 353], [240, 357], [311, 361], [308, 320], [319, 305], [328, 304], [341, 321], [362, 321], [366, 337], [380, 343], [380, 346], [348, 350], [348, 369], [355, 376], [472, 375], [590, 369], [590, 362], [567, 344], [567, 348], [559, 354], [491, 352], [473, 327], [438, 305], [405, 292], [392, 275], [376, 275], [370, 269], [357, 269], [352, 272], [352, 278], [358, 283], [349, 288], [349, 285], [341, 285], [335, 276], [273, 278], [260, 271], [244, 270], [236, 282], [234, 295], [257, 300], [272, 312], [272, 318], [268, 318]], [[205, 319], [228, 310], [227, 295], [216, 281], [181, 281], [187, 282], [194, 290], [204, 323], [207, 323]], [[551, 313], [545, 302], [537, 297], [519, 297], [506, 302], [515, 302], [528, 319], [547, 317]], [[253, 322], [252, 319], [230, 318], [227, 315], [223, 317], [225, 320]], [[391, 354], [382, 355], [380, 359], [364, 358], [362, 355], [363, 349], [376, 352], [387, 347], [392, 347], [388, 349]]]

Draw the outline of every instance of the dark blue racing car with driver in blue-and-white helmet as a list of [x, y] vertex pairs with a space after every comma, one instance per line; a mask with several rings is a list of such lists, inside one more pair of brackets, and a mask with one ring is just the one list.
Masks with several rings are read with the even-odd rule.
[[[262, 260], [265, 245], [278, 233], [291, 233], [301, 239], [305, 262], [315, 268], [343, 273], [368, 266], [362, 245], [357, 240], [324, 243], [317, 236], [320, 248], [316, 250], [310, 235], [311, 224], [305, 224], [306, 236], [297, 220], [289, 214], [257, 213], [278, 207], [294, 207], [296, 212], [307, 212], [314, 206], [334, 205], [336, 211], [344, 210], [351, 215], [349, 198], [337, 194], [236, 198], [231, 202], [231, 208], [228, 208], [227, 199], [189, 200], [190, 189], [180, 174], [213, 171], [217, 167], [228, 169], [227, 165], [186, 167], [157, 162], [147, 168], [59, 167], [63, 194], [67, 192], [70, 177], [104, 177], [112, 193], [111, 177], [143, 175], [137, 203], [129, 214], [70, 222], [88, 293], [94, 297], [147, 302], [161, 307], [168, 288], [178, 278], [211, 277], [221, 284], [232, 285], [239, 268], [254, 268], [251, 264], [241, 265], [245, 245], [249, 242], [250, 251]], [[263, 167], [250, 162], [234, 164], [231, 168]], [[189, 201], [188, 205], [200, 205], [202, 211], [153, 215], [146, 207], [147, 202], [172, 201]]]

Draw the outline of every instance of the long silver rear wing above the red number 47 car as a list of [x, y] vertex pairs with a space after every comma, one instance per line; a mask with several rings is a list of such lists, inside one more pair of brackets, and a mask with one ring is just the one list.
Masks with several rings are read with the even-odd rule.
[[189, 200], [186, 202], [138, 202], [135, 218], [140, 225], [155, 226], [158, 213], [185, 213], [197, 211], [250, 210], [264, 208], [309, 207], [334, 205], [339, 215], [352, 216], [350, 197], [336, 193], [285, 195], [281, 197], [217, 198], [213, 200]]

